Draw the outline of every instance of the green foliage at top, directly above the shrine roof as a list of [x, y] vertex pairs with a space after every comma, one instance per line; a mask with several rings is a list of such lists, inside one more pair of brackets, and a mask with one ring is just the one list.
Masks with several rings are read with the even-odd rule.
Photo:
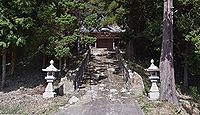
[[100, 27], [110, 24], [121, 24], [125, 9], [125, 1], [120, 0], [89, 0], [90, 12], [94, 13]]

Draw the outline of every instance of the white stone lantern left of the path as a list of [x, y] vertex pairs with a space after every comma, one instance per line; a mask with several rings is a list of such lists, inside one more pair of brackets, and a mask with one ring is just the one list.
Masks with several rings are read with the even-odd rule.
[[47, 76], [45, 77], [45, 79], [47, 80], [47, 83], [48, 83], [47, 87], [45, 88], [45, 92], [43, 93], [43, 98], [50, 98], [56, 95], [53, 89], [53, 80], [55, 79], [54, 77], [55, 72], [58, 72], [60, 70], [55, 68], [53, 64], [54, 64], [54, 61], [51, 60], [50, 66], [48, 66], [46, 69], [42, 69], [42, 71], [47, 72]]

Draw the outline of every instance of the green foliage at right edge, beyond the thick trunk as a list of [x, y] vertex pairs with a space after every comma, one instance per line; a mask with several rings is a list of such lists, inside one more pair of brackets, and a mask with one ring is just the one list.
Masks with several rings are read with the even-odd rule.
[[[175, 2], [175, 50], [177, 60], [188, 64], [188, 73], [199, 75], [200, 64], [200, 3], [197, 0], [179, 0]], [[187, 48], [188, 52], [184, 50]], [[185, 57], [186, 60], [182, 59]], [[183, 67], [183, 66], [182, 66]]]

